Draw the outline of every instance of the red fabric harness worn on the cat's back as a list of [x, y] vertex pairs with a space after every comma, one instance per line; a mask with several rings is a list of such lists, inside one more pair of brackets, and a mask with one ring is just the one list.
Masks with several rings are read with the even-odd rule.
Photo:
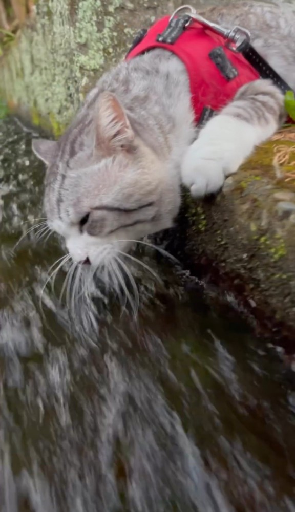
[[[167, 28], [169, 19], [165, 16], [156, 22], [125, 58], [132, 59], [154, 48], [164, 48], [177, 55], [187, 69], [196, 122], [200, 120], [204, 108], [219, 111], [234, 98], [243, 84], [260, 77], [240, 53], [226, 48], [222, 36], [195, 20], [183, 30], [174, 44], [157, 41], [157, 36]], [[224, 73], [224, 66], [220, 71], [219, 51], [223, 64], [225, 59], [225, 68], [227, 66], [231, 71], [231, 77]], [[217, 58], [213, 58], [216, 52]]]

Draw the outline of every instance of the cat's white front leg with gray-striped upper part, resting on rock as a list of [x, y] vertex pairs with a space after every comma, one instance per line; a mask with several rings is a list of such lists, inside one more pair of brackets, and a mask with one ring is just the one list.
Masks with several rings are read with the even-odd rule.
[[284, 119], [284, 96], [270, 80], [246, 84], [188, 147], [182, 162], [182, 183], [194, 197], [217, 192], [225, 178], [236, 173]]

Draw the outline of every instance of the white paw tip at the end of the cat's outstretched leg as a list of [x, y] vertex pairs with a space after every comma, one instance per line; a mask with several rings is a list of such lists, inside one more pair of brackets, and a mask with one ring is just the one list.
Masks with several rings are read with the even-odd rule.
[[225, 180], [219, 159], [198, 157], [197, 153], [193, 146], [189, 147], [181, 168], [182, 183], [196, 198], [218, 192]]

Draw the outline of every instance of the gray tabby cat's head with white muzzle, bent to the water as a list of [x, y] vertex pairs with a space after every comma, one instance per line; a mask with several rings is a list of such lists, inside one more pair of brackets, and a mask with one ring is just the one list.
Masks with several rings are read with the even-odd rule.
[[165, 159], [134, 133], [113, 94], [100, 94], [94, 118], [87, 136], [38, 139], [33, 150], [48, 166], [49, 226], [65, 238], [74, 262], [98, 266], [170, 227], [180, 200]]

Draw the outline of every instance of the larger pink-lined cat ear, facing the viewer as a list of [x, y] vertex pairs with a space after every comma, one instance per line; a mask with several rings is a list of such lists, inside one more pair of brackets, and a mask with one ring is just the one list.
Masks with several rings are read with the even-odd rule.
[[105, 155], [130, 150], [134, 132], [117, 98], [105, 91], [98, 97], [95, 145]]

